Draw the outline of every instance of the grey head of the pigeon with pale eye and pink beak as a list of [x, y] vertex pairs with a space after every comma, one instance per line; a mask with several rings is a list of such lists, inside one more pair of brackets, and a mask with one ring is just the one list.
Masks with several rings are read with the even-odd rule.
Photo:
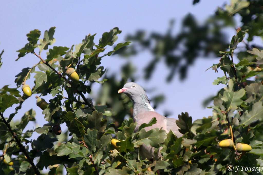
[[125, 93], [131, 99], [134, 99], [137, 96], [146, 95], [143, 88], [133, 82], [124, 84], [123, 88], [118, 91], [118, 93]]

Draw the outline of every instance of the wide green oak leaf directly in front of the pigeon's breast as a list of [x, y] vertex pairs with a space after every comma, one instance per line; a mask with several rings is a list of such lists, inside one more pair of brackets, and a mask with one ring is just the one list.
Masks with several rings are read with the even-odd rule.
[[159, 147], [160, 143], [163, 143], [166, 138], [166, 131], [159, 130], [159, 128], [151, 129], [146, 132], [144, 128], [139, 131], [138, 139], [134, 142], [134, 147], [139, 147], [142, 144], [146, 146]]

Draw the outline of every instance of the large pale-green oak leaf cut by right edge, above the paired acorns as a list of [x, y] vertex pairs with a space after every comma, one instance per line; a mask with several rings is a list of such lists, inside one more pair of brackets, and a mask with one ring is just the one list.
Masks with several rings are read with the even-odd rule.
[[262, 101], [256, 102], [254, 105], [252, 105], [252, 110], [248, 114], [244, 113], [242, 116], [240, 116], [241, 119], [240, 124], [249, 125], [255, 120], [262, 121], [262, 116], [263, 116]]

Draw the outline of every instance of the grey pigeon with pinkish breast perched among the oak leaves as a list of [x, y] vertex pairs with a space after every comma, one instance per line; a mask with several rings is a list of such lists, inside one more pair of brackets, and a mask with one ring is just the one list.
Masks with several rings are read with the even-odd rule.
[[[157, 122], [152, 126], [145, 127], [146, 131], [154, 128], [164, 129], [167, 133], [172, 130], [177, 137], [183, 136], [179, 132], [179, 127], [176, 125], [174, 118], [166, 118], [165, 116], [157, 113], [150, 105], [149, 98], [147, 97], [144, 89], [136, 83], [129, 82], [124, 84], [122, 89], [119, 89], [118, 93], [126, 94], [133, 102], [133, 121], [137, 123], [135, 131], [137, 132], [140, 125], [143, 123], [149, 123], [152, 118], [156, 118]], [[146, 145], [140, 146], [140, 155], [143, 159], [152, 159], [154, 155], [154, 147], [148, 147]], [[160, 149], [157, 155], [157, 159], [161, 157]]]

